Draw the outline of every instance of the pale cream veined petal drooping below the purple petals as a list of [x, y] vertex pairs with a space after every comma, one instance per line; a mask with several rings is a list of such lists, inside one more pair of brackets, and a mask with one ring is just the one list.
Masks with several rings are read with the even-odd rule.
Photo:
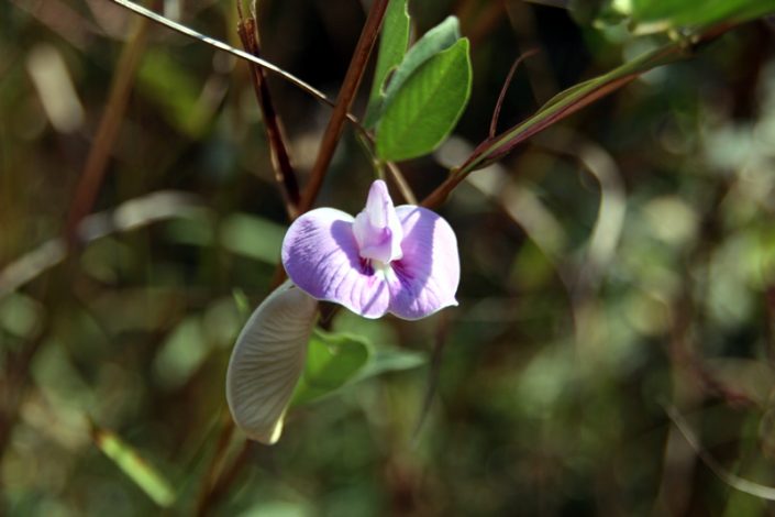
[[236, 425], [262, 443], [277, 442], [301, 376], [318, 302], [286, 282], [253, 312], [229, 361], [226, 400]]

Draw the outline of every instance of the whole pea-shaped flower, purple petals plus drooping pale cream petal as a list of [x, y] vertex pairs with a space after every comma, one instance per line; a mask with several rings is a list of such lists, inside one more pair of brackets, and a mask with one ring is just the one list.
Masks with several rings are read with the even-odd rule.
[[461, 276], [450, 224], [425, 208], [394, 207], [380, 180], [355, 218], [333, 208], [299, 217], [283, 242], [283, 264], [290, 280], [247, 320], [226, 373], [234, 421], [267, 444], [280, 438], [303, 372], [315, 299], [336, 301], [366, 318], [392, 312], [419, 319], [457, 305]]

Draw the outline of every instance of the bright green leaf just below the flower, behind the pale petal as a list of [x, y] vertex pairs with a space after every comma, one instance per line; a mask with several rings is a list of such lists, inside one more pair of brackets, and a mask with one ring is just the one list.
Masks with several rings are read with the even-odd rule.
[[352, 381], [366, 364], [370, 346], [359, 337], [315, 330], [291, 406], [315, 400]]

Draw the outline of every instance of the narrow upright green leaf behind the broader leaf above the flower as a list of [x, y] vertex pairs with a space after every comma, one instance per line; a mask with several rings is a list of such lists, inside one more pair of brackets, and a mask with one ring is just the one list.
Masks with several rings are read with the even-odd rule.
[[372, 95], [368, 100], [368, 109], [364, 124], [373, 127], [385, 99], [383, 87], [388, 74], [394, 70], [403, 59], [409, 45], [409, 12], [407, 12], [408, 0], [390, 0], [385, 21], [383, 22], [383, 32], [379, 36], [379, 55], [377, 56], [377, 66], [374, 72], [374, 84], [372, 85]]

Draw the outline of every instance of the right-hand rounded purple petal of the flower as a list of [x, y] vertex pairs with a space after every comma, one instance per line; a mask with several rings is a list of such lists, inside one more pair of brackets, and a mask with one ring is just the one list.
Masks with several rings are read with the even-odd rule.
[[461, 263], [455, 232], [425, 208], [402, 205], [396, 212], [403, 227], [403, 257], [390, 264], [389, 311], [414, 320], [457, 305]]

